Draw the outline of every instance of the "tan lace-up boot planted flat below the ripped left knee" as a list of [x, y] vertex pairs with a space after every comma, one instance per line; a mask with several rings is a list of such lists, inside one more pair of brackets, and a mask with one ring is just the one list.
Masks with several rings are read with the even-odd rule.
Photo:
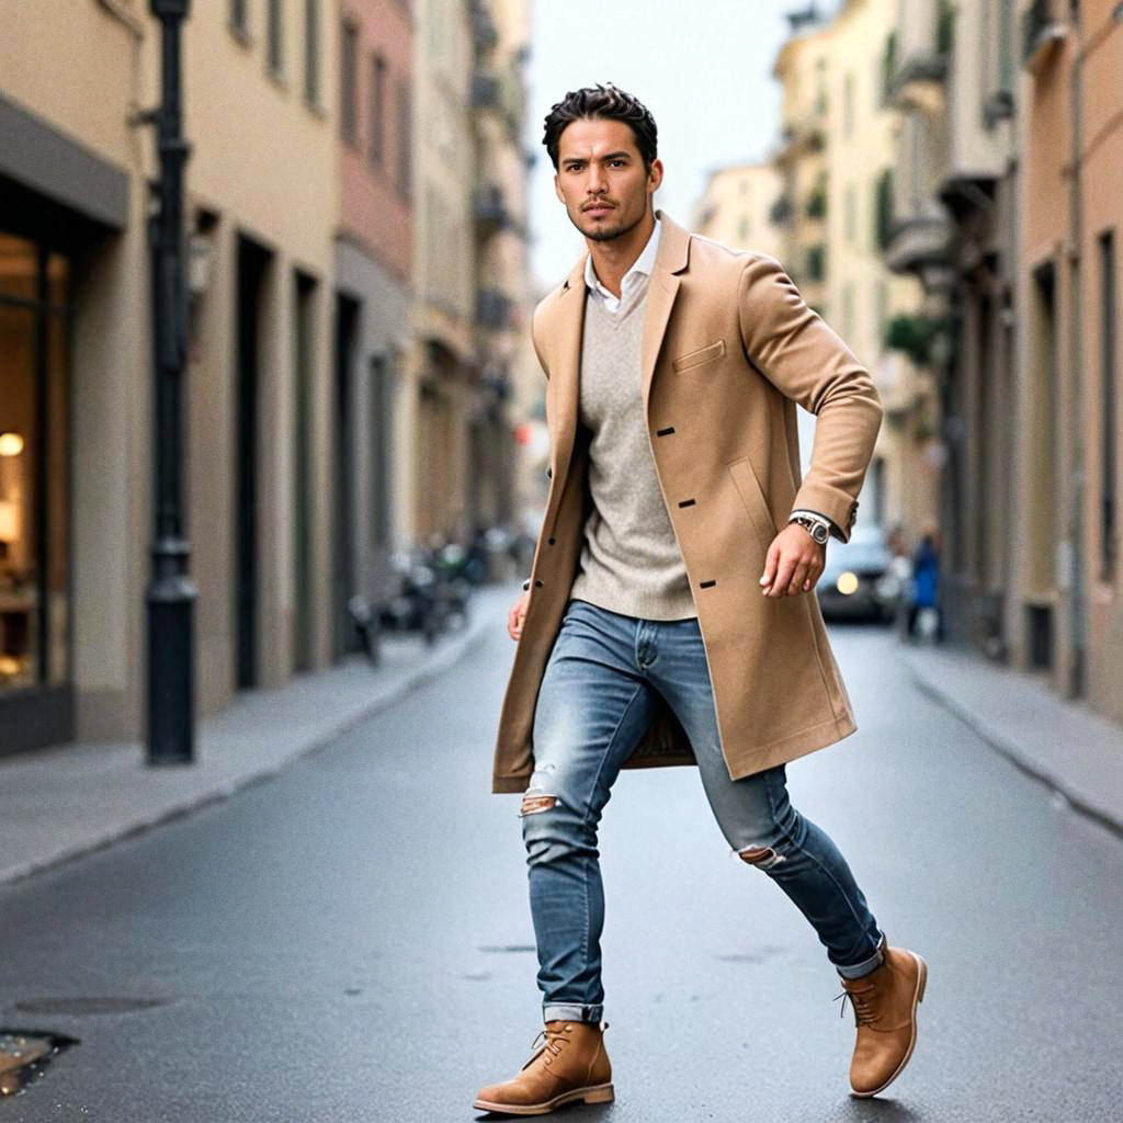
[[608, 1025], [590, 1022], [547, 1022], [544, 1039], [522, 1071], [506, 1084], [480, 1089], [473, 1107], [508, 1115], [548, 1115], [555, 1107], [583, 1099], [612, 1102], [612, 1066], [604, 1051]]

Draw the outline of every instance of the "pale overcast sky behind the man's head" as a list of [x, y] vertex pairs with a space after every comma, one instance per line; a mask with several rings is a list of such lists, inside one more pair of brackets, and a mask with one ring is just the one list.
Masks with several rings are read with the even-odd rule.
[[[568, 273], [584, 248], [554, 194], [542, 121], [569, 90], [614, 82], [651, 110], [665, 165], [656, 206], [688, 225], [706, 172], [766, 158], [776, 141], [779, 86], [772, 76], [788, 34], [785, 13], [807, 0], [531, 0], [527, 144], [531, 262], [540, 287]], [[834, 0], [821, 0], [821, 11]]]

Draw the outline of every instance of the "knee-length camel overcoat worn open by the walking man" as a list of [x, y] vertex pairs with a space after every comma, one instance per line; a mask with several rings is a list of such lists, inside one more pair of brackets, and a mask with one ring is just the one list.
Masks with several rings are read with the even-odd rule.
[[[643, 321], [643, 410], [697, 611], [722, 751], [740, 779], [857, 728], [818, 599], [766, 597], [758, 579], [795, 506], [828, 515], [849, 537], [882, 405], [867, 371], [777, 261], [659, 217]], [[548, 380], [550, 490], [500, 714], [495, 792], [524, 791], [533, 770], [538, 690], [590, 511], [588, 435], [577, 417], [584, 271], [583, 258], [531, 321]], [[818, 417], [805, 480], [796, 403]], [[694, 763], [682, 725], [660, 701], [626, 767]]]

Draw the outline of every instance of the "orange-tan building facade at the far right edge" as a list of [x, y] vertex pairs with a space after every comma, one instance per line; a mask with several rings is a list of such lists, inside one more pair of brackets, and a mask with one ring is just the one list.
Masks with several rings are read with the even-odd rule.
[[1013, 660], [1123, 720], [1119, 567], [1123, 22], [1108, 0], [1015, 4]]

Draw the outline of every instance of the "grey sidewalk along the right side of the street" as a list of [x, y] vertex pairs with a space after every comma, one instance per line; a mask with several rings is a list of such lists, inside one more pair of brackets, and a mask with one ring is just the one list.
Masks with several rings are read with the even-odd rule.
[[917, 684], [1019, 768], [1123, 834], [1123, 727], [979, 656], [905, 649]]

